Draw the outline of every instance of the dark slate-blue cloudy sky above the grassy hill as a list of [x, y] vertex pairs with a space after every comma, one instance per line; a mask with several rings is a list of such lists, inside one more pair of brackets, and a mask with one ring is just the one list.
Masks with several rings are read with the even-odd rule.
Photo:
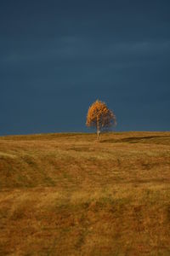
[[170, 129], [169, 0], [0, 1], [0, 135]]

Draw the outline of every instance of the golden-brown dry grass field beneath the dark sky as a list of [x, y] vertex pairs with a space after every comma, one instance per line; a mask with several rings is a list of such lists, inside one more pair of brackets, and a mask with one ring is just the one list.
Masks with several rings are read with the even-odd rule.
[[0, 255], [170, 255], [170, 132], [0, 137]]

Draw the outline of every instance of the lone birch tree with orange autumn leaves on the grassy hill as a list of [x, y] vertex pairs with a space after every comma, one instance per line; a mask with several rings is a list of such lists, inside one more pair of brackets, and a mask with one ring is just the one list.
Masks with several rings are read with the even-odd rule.
[[97, 131], [97, 138], [101, 131], [108, 130], [111, 126], [116, 125], [116, 116], [107, 108], [105, 102], [97, 100], [88, 108], [86, 125], [94, 127]]

